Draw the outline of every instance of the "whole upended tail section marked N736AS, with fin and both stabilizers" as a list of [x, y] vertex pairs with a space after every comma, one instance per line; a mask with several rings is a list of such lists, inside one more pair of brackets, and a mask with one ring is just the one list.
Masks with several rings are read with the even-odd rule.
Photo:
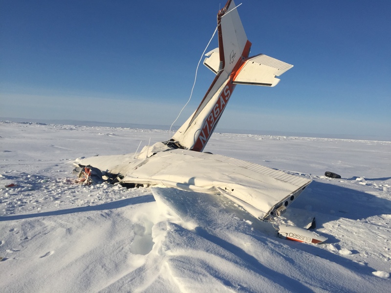
[[[265, 55], [248, 59], [251, 42], [247, 40], [233, 0], [228, 0], [224, 8], [217, 13], [217, 31], [218, 48], [208, 52], [204, 60], [204, 64], [216, 74], [215, 80], [193, 115], [170, 140], [176, 147], [202, 151], [215, 130], [236, 84], [274, 86], [279, 81], [275, 76], [292, 67]], [[261, 56], [267, 57], [266, 63], [259, 61], [262, 59]], [[272, 61], [279, 63], [274, 65]], [[258, 64], [257, 62], [263, 63], [257, 67], [254, 65]], [[286, 68], [283, 64], [290, 67]], [[253, 74], [256, 76], [253, 77]]]

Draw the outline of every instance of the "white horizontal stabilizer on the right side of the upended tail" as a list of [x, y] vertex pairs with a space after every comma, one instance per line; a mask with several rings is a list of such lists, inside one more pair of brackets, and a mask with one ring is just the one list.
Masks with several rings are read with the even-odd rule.
[[276, 76], [282, 75], [293, 65], [260, 54], [249, 58], [234, 77], [234, 84], [275, 86], [280, 82]]

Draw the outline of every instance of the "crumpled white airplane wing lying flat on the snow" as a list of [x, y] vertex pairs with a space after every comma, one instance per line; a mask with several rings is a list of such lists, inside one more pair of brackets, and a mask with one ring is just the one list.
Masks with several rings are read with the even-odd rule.
[[142, 160], [133, 157], [91, 157], [78, 163], [120, 174], [121, 184], [222, 194], [261, 220], [282, 214], [311, 182], [281, 170], [185, 149], [167, 148]]

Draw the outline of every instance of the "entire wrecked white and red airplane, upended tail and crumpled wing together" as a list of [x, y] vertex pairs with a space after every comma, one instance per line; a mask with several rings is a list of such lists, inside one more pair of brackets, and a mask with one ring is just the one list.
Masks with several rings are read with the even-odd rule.
[[263, 54], [248, 57], [251, 43], [232, 0], [217, 14], [217, 31], [218, 48], [204, 61], [216, 77], [193, 115], [168, 142], [145, 146], [138, 154], [95, 156], [76, 165], [98, 168], [123, 185], [221, 194], [254, 217], [268, 220], [281, 215], [311, 180], [202, 151], [236, 84], [275, 86], [276, 76], [292, 65]]

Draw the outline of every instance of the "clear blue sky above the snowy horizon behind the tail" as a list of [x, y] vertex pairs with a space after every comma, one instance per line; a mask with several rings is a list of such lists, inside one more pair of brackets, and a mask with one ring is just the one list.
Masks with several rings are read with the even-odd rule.
[[[294, 67], [238, 85], [218, 127], [391, 140], [390, 0], [241, 2], [251, 54]], [[1, 0], [0, 117], [171, 125], [224, 4]], [[178, 125], [213, 78], [201, 64]]]

